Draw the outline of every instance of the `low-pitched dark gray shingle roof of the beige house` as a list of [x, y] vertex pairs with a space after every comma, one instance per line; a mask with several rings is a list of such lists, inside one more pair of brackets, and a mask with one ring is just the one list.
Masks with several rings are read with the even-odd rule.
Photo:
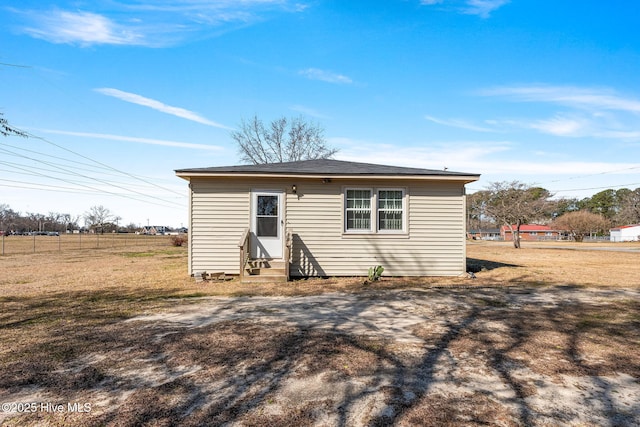
[[208, 174], [273, 174], [273, 175], [348, 175], [348, 176], [448, 176], [479, 177], [478, 174], [450, 172], [447, 170], [406, 168], [371, 163], [346, 162], [319, 159], [297, 162], [269, 163], [263, 165], [215, 166], [210, 168], [178, 169], [179, 175]]

